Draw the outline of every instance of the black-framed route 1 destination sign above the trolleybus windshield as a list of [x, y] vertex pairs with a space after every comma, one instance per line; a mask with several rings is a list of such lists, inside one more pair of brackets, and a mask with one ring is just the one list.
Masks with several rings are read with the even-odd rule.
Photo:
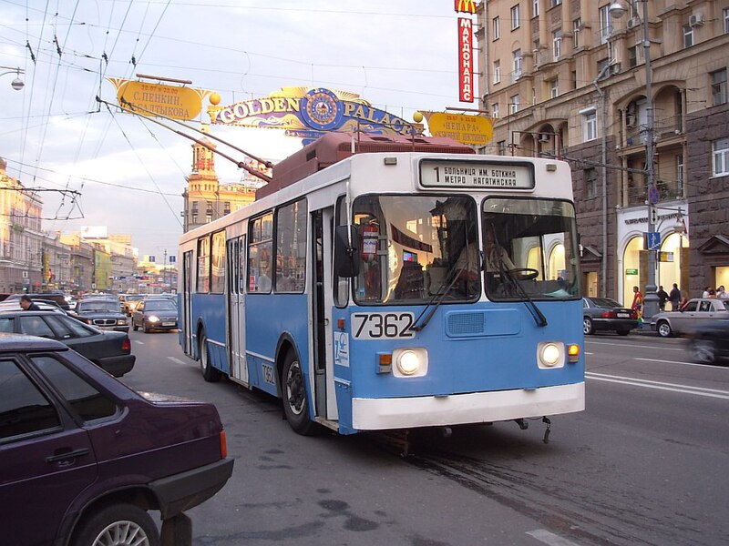
[[483, 187], [533, 189], [530, 165], [485, 163], [482, 161], [423, 160], [420, 184], [424, 187]]

